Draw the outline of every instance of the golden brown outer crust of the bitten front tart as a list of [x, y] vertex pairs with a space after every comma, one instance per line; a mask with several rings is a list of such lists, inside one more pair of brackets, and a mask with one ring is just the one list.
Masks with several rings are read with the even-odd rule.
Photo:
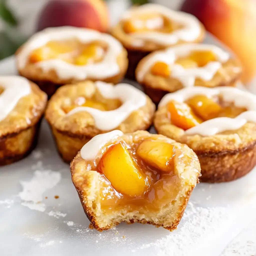
[[[147, 219], [146, 217], [140, 219], [128, 218], [123, 221], [125, 221], [128, 224], [134, 222], [139, 222], [143, 224], [148, 223], [155, 225], [157, 227], [164, 227], [165, 229], [173, 231], [177, 228], [177, 225], [183, 216], [190, 194], [193, 188], [195, 187], [196, 183], [198, 183], [198, 177], [200, 176], [200, 165], [198, 163], [198, 158], [196, 157], [194, 152], [191, 149], [189, 149], [186, 145], [177, 143], [162, 135], [153, 135], [145, 131], [137, 131], [133, 134], [125, 134], [121, 136], [121, 138], [119, 139], [124, 140], [126, 143], [129, 144], [138, 143], [139, 141], [148, 139], [149, 137], [152, 138], [153, 140], [157, 140], [159, 138], [161, 141], [172, 143], [183, 152], [183, 157], [185, 158], [184, 163], [189, 163], [189, 166], [185, 167], [183, 166], [183, 164], [181, 164], [181, 166], [178, 166], [177, 175], [179, 176], [181, 183], [183, 184], [184, 190], [182, 190], [182, 192], [180, 191], [179, 193], [179, 199], [177, 199], [179, 200], [177, 212], [175, 212], [175, 218], [173, 221], [169, 223], [169, 225], [166, 225], [166, 223], [157, 223], [153, 220]], [[95, 161], [99, 161], [101, 156], [104, 154], [105, 150], [106, 149], [103, 147], [103, 150], [99, 151], [99, 155], [97, 156]], [[118, 225], [121, 221], [116, 221], [115, 219], [112, 219], [111, 223], [108, 223], [105, 226], [102, 226], [102, 223], [100, 223], [99, 212], [97, 212], [97, 214], [95, 213], [95, 211], [97, 211], [95, 207], [96, 205], [99, 205], [99, 201], [98, 198], [95, 197], [96, 192], [94, 191], [94, 189], [96, 188], [97, 190], [100, 190], [101, 183], [97, 183], [97, 181], [99, 180], [98, 173], [95, 171], [91, 171], [91, 167], [88, 166], [86, 160], [81, 158], [80, 152], [71, 162], [70, 171], [72, 182], [76, 187], [84, 212], [86, 213], [88, 219], [91, 221], [93, 228], [97, 229], [98, 231], [103, 231]], [[92, 199], [93, 197], [94, 199]]]

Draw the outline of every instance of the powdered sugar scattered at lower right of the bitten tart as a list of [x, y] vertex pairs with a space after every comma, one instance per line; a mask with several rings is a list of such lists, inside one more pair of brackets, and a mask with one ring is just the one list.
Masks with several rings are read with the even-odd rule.
[[152, 247], [159, 256], [189, 255], [191, 248], [196, 248], [202, 239], [215, 232], [220, 227], [219, 225], [229, 218], [229, 213], [228, 208], [195, 207], [192, 202], [189, 202], [176, 231], [155, 242], [143, 244], [133, 249], [133, 252]]

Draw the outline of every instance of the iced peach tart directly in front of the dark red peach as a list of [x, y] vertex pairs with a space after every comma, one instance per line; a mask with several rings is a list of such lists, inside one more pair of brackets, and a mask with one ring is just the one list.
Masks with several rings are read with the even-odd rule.
[[[68, 60], [76, 56], [78, 51], [82, 54], [84, 48], [81, 46], [81, 49], [78, 49], [76, 48], [78, 46], [74, 46], [74, 49], [70, 49], [71, 43], [68, 43], [65, 45], [68, 50], [63, 54], [60, 48], [63, 47], [61, 43], [65, 40], [77, 40], [84, 46], [97, 42], [104, 44], [106, 49], [104, 53], [103, 48], [94, 49], [95, 54], [102, 55], [102, 59], [98, 62], [90, 63], [91, 59], [88, 59], [87, 64], [78, 65], [79, 62], [68, 62]], [[46, 47], [51, 42], [55, 44], [52, 46], [53, 52], [50, 51], [51, 48]], [[58, 43], [60, 46], [56, 45]], [[31, 62], [31, 54], [38, 49], [41, 49], [42, 59], [36, 56], [36, 60]], [[55, 52], [58, 54], [52, 57]], [[47, 54], [51, 56], [45, 58]], [[67, 59], [59, 57], [65, 57], [65, 54], [69, 56]], [[91, 55], [91, 52], [87, 54]], [[81, 57], [79, 61], [84, 61], [84, 56]], [[47, 28], [38, 32], [17, 50], [16, 62], [19, 73], [37, 83], [49, 97], [63, 84], [84, 80], [118, 83], [124, 77], [128, 66], [127, 52], [118, 40], [108, 34], [76, 27]]]

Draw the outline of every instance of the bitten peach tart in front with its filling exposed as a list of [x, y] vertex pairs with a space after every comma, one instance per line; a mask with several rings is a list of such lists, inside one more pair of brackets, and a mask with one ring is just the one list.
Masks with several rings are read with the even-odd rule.
[[200, 176], [193, 150], [147, 131], [95, 136], [70, 170], [84, 212], [99, 231], [122, 221], [175, 230]]

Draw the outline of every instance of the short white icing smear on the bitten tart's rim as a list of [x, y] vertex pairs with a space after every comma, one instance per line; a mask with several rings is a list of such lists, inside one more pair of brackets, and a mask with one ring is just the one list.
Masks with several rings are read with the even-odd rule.
[[94, 160], [104, 145], [122, 135], [123, 133], [119, 130], [96, 135], [82, 147], [80, 151], [81, 157], [84, 160]]

